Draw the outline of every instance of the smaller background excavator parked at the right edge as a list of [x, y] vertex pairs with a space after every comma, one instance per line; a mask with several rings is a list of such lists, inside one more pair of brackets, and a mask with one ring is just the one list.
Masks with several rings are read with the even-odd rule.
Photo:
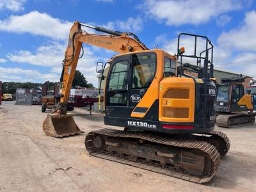
[[[219, 127], [239, 127], [255, 123], [253, 95], [244, 93], [243, 78], [225, 78], [216, 88], [216, 124]], [[244, 112], [244, 113], [243, 113]]]

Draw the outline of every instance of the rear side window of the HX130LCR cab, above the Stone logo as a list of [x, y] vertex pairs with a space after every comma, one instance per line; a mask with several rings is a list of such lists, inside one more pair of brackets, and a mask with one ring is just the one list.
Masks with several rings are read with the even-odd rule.
[[156, 73], [154, 52], [132, 54], [132, 88], [148, 88]]

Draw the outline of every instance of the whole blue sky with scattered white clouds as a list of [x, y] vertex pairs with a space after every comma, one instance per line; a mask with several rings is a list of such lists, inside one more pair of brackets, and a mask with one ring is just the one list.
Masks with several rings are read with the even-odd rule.
[[[214, 45], [215, 67], [256, 77], [253, 0], [0, 0], [0, 81], [59, 81], [76, 20], [135, 33], [148, 48], [170, 54], [179, 33], [204, 35]], [[184, 46], [189, 50], [191, 40]], [[97, 61], [116, 52], [83, 47], [77, 69], [97, 86]]]

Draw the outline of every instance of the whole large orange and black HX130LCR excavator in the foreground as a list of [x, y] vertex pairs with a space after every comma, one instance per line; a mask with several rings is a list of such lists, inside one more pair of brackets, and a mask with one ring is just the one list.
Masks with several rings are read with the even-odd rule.
[[[98, 32], [87, 33], [85, 27]], [[179, 44], [186, 36], [195, 38], [195, 49], [196, 40], [204, 40], [204, 54], [198, 55], [196, 50], [195, 54], [185, 54]], [[67, 113], [77, 62], [83, 56], [82, 44], [118, 52], [108, 62], [108, 75], [103, 75], [106, 64], [99, 71], [106, 82], [104, 124], [124, 128], [88, 132], [84, 143], [89, 154], [190, 182], [211, 180], [220, 158], [230, 148], [230, 140], [223, 132], [214, 131], [216, 86], [210, 79], [210, 40], [181, 33], [177, 55], [171, 55], [161, 49], [148, 49], [134, 33], [74, 22], [63, 60], [61, 90], [56, 95], [58, 105], [43, 123], [47, 136], [82, 132]], [[185, 76], [181, 64], [177, 71], [176, 61], [183, 57], [202, 61], [200, 76]]]

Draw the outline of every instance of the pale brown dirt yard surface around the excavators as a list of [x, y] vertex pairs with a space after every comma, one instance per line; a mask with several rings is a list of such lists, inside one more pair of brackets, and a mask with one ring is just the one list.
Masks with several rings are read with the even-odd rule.
[[[82, 131], [107, 127], [103, 116], [75, 109]], [[195, 184], [92, 157], [85, 134], [51, 138], [41, 106], [0, 106], [0, 191], [256, 191], [256, 125], [220, 129], [231, 140], [218, 173]]]

